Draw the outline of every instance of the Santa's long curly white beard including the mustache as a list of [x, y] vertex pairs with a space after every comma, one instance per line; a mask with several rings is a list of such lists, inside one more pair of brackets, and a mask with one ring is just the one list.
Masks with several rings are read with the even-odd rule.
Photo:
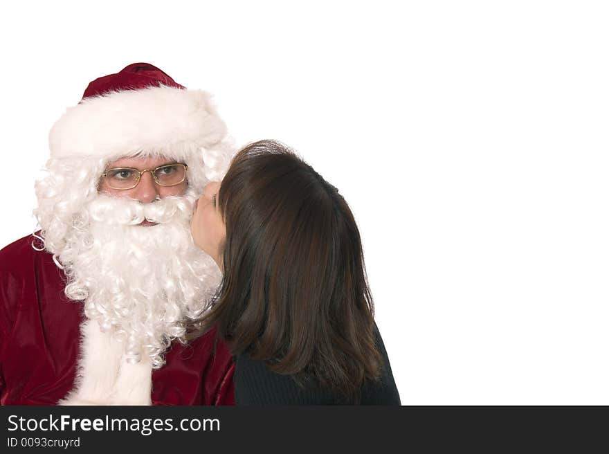
[[183, 338], [183, 322], [199, 316], [220, 282], [217, 266], [192, 242], [192, 202], [145, 206], [100, 195], [88, 209], [89, 226], [74, 230], [66, 255], [66, 295], [84, 300], [85, 316], [120, 340], [125, 359], [147, 356], [159, 367], [170, 341]]

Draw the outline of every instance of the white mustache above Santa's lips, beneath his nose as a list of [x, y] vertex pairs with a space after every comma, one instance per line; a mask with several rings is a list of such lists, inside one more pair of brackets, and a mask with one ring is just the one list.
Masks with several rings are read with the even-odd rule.
[[193, 205], [194, 197], [188, 193], [179, 197], [165, 197], [151, 203], [98, 194], [98, 197], [89, 203], [87, 212], [93, 221], [105, 224], [136, 226], [146, 219], [157, 224], [167, 224], [175, 221], [176, 216], [188, 219], [192, 214]]

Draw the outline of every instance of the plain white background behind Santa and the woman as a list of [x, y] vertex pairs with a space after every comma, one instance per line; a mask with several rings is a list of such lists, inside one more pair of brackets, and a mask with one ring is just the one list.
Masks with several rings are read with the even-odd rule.
[[149, 62], [343, 193], [403, 404], [607, 405], [603, 3], [10, 2], [0, 247], [53, 122]]

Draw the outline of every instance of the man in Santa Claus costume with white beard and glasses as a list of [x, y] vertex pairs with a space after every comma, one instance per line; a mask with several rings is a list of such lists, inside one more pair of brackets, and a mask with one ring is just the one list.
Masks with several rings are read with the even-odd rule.
[[40, 230], [0, 251], [0, 403], [233, 403], [226, 345], [185, 341], [220, 278], [189, 230], [231, 155], [210, 96], [131, 64], [49, 143]]

